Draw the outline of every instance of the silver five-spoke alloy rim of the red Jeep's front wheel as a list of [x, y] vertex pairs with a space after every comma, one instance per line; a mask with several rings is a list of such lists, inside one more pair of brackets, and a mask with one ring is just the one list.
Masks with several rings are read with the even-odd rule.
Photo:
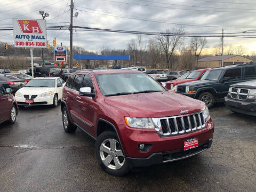
[[112, 170], [121, 169], [125, 162], [119, 142], [115, 139], [106, 139], [101, 143], [100, 158], [102, 163]]

